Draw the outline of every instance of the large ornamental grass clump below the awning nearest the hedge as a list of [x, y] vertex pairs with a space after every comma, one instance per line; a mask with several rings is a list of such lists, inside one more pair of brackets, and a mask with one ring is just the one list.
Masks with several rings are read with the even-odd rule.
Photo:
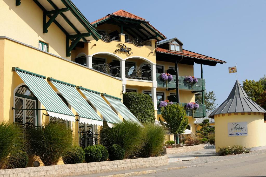
[[107, 149], [113, 144], [118, 144], [124, 148], [125, 158], [138, 156], [143, 149], [141, 129], [141, 125], [131, 121], [123, 121], [112, 128], [108, 126], [101, 127], [99, 130], [99, 144]]

